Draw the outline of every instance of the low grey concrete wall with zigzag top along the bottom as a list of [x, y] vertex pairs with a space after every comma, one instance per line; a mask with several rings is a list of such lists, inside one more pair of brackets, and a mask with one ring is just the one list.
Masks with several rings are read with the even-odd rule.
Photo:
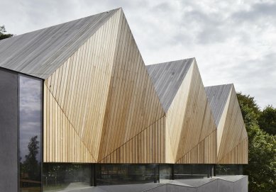
[[[192, 182], [191, 180], [194, 180]], [[228, 176], [221, 178], [182, 179], [177, 183], [129, 184], [120, 186], [96, 186], [60, 192], [248, 192], [248, 176]], [[185, 183], [186, 182], [186, 183]], [[182, 184], [181, 184], [182, 183]], [[189, 184], [193, 183], [193, 185]]]

